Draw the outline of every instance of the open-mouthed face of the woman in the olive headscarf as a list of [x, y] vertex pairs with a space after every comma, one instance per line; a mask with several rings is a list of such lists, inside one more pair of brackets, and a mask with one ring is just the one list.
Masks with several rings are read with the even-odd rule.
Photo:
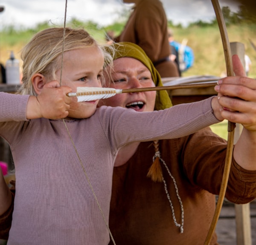
[[[109, 72], [107, 68], [107, 72]], [[113, 61], [111, 77], [105, 72], [106, 87], [110, 88], [146, 88], [154, 87], [148, 68], [139, 60], [122, 57]], [[112, 80], [110, 80], [112, 78]], [[156, 91], [116, 94], [108, 99], [100, 100], [99, 106], [121, 106], [135, 111], [154, 111]]]

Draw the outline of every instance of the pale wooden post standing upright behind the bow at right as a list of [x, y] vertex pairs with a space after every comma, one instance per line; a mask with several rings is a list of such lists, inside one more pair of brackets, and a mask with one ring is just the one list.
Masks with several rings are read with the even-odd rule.
[[[230, 43], [231, 53], [238, 54], [243, 66], [244, 62], [244, 44]], [[242, 126], [237, 123], [235, 128], [234, 143], [237, 142], [241, 134]], [[252, 245], [251, 223], [250, 223], [250, 203], [235, 204], [236, 211], [236, 245]]]

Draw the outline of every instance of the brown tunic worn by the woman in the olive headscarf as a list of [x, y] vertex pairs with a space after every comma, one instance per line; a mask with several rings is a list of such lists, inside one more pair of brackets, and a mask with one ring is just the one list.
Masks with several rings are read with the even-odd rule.
[[[174, 224], [163, 183], [146, 177], [154, 156], [152, 142], [140, 143], [125, 165], [114, 168], [109, 222], [116, 244], [204, 244], [215, 211], [214, 194], [219, 193], [221, 185], [226, 146], [210, 130], [160, 141], [161, 157], [177, 182], [183, 203], [181, 234]], [[174, 184], [166, 169], [163, 174], [180, 223], [180, 204]], [[256, 197], [255, 179], [256, 171], [246, 171], [233, 161], [226, 198], [235, 203], [250, 202]], [[211, 245], [216, 244], [215, 234]]]

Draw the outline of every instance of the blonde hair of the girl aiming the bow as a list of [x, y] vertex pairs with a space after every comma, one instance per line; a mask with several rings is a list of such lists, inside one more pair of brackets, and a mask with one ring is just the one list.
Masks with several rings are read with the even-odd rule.
[[[64, 47], [63, 36], [65, 31]], [[23, 84], [19, 94], [37, 95], [32, 85], [32, 76], [40, 73], [48, 79], [55, 79], [55, 73], [61, 69], [62, 53], [79, 48], [99, 46], [96, 40], [84, 29], [74, 28], [47, 28], [38, 32], [21, 50], [23, 60]], [[111, 63], [111, 55], [102, 49], [105, 60]]]

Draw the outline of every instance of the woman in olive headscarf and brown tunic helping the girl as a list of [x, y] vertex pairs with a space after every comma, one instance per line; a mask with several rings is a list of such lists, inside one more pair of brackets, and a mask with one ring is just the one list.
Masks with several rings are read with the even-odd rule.
[[[114, 46], [118, 47], [117, 44]], [[244, 75], [237, 60], [234, 67], [237, 75]], [[151, 77], [145, 74], [145, 70], [150, 71]], [[113, 88], [147, 87], [151, 78], [157, 86], [162, 85], [148, 57], [140, 47], [132, 43], [119, 46], [114, 55], [111, 75], [113, 82], [105, 77], [107, 86]], [[246, 78], [246, 81], [255, 87], [252, 79]], [[253, 97], [255, 101], [255, 92], [247, 89], [247, 93], [245, 96]], [[152, 92], [118, 94], [101, 103], [141, 112], [170, 106], [169, 97], [164, 92], [158, 94], [156, 103], [152, 103], [152, 98]], [[254, 102], [248, 105], [255, 107]], [[250, 108], [243, 106], [245, 113], [241, 114], [239, 120], [244, 120], [242, 118]], [[240, 144], [247, 133], [244, 129], [240, 142], [235, 147], [227, 187], [226, 198], [235, 203], [250, 202], [256, 197], [256, 183], [253, 182], [256, 164], [243, 168], [242, 164], [249, 163], [250, 160], [244, 161], [244, 156], [240, 155], [240, 158], [240, 153], [237, 154], [242, 149]], [[253, 135], [252, 131], [250, 135]], [[249, 138], [246, 137], [245, 142], [250, 142]], [[219, 193], [221, 185], [226, 148], [227, 142], [209, 128], [175, 140], [135, 142], [122, 148], [116, 157], [113, 172], [109, 220], [116, 244], [204, 244], [215, 211], [215, 194]], [[247, 154], [253, 154], [253, 149], [255, 144], [252, 143]], [[157, 156], [162, 160], [163, 182], [153, 182], [147, 177], [148, 169]], [[122, 165], [123, 162], [126, 163]], [[252, 171], [248, 171], [249, 169]], [[218, 244], [216, 234], [211, 244]]]

